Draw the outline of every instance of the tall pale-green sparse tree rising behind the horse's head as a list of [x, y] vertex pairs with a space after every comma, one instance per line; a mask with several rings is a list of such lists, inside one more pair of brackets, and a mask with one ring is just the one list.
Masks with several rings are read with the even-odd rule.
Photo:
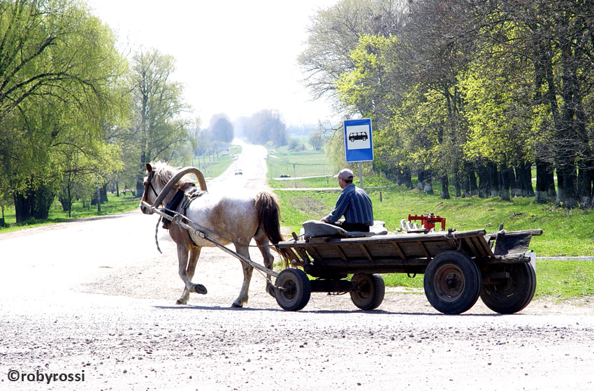
[[187, 105], [182, 85], [171, 80], [174, 59], [156, 49], [140, 50], [132, 59], [133, 127], [138, 165], [136, 192], [143, 193], [146, 163], [171, 160], [188, 142], [189, 121], [180, 116]]

